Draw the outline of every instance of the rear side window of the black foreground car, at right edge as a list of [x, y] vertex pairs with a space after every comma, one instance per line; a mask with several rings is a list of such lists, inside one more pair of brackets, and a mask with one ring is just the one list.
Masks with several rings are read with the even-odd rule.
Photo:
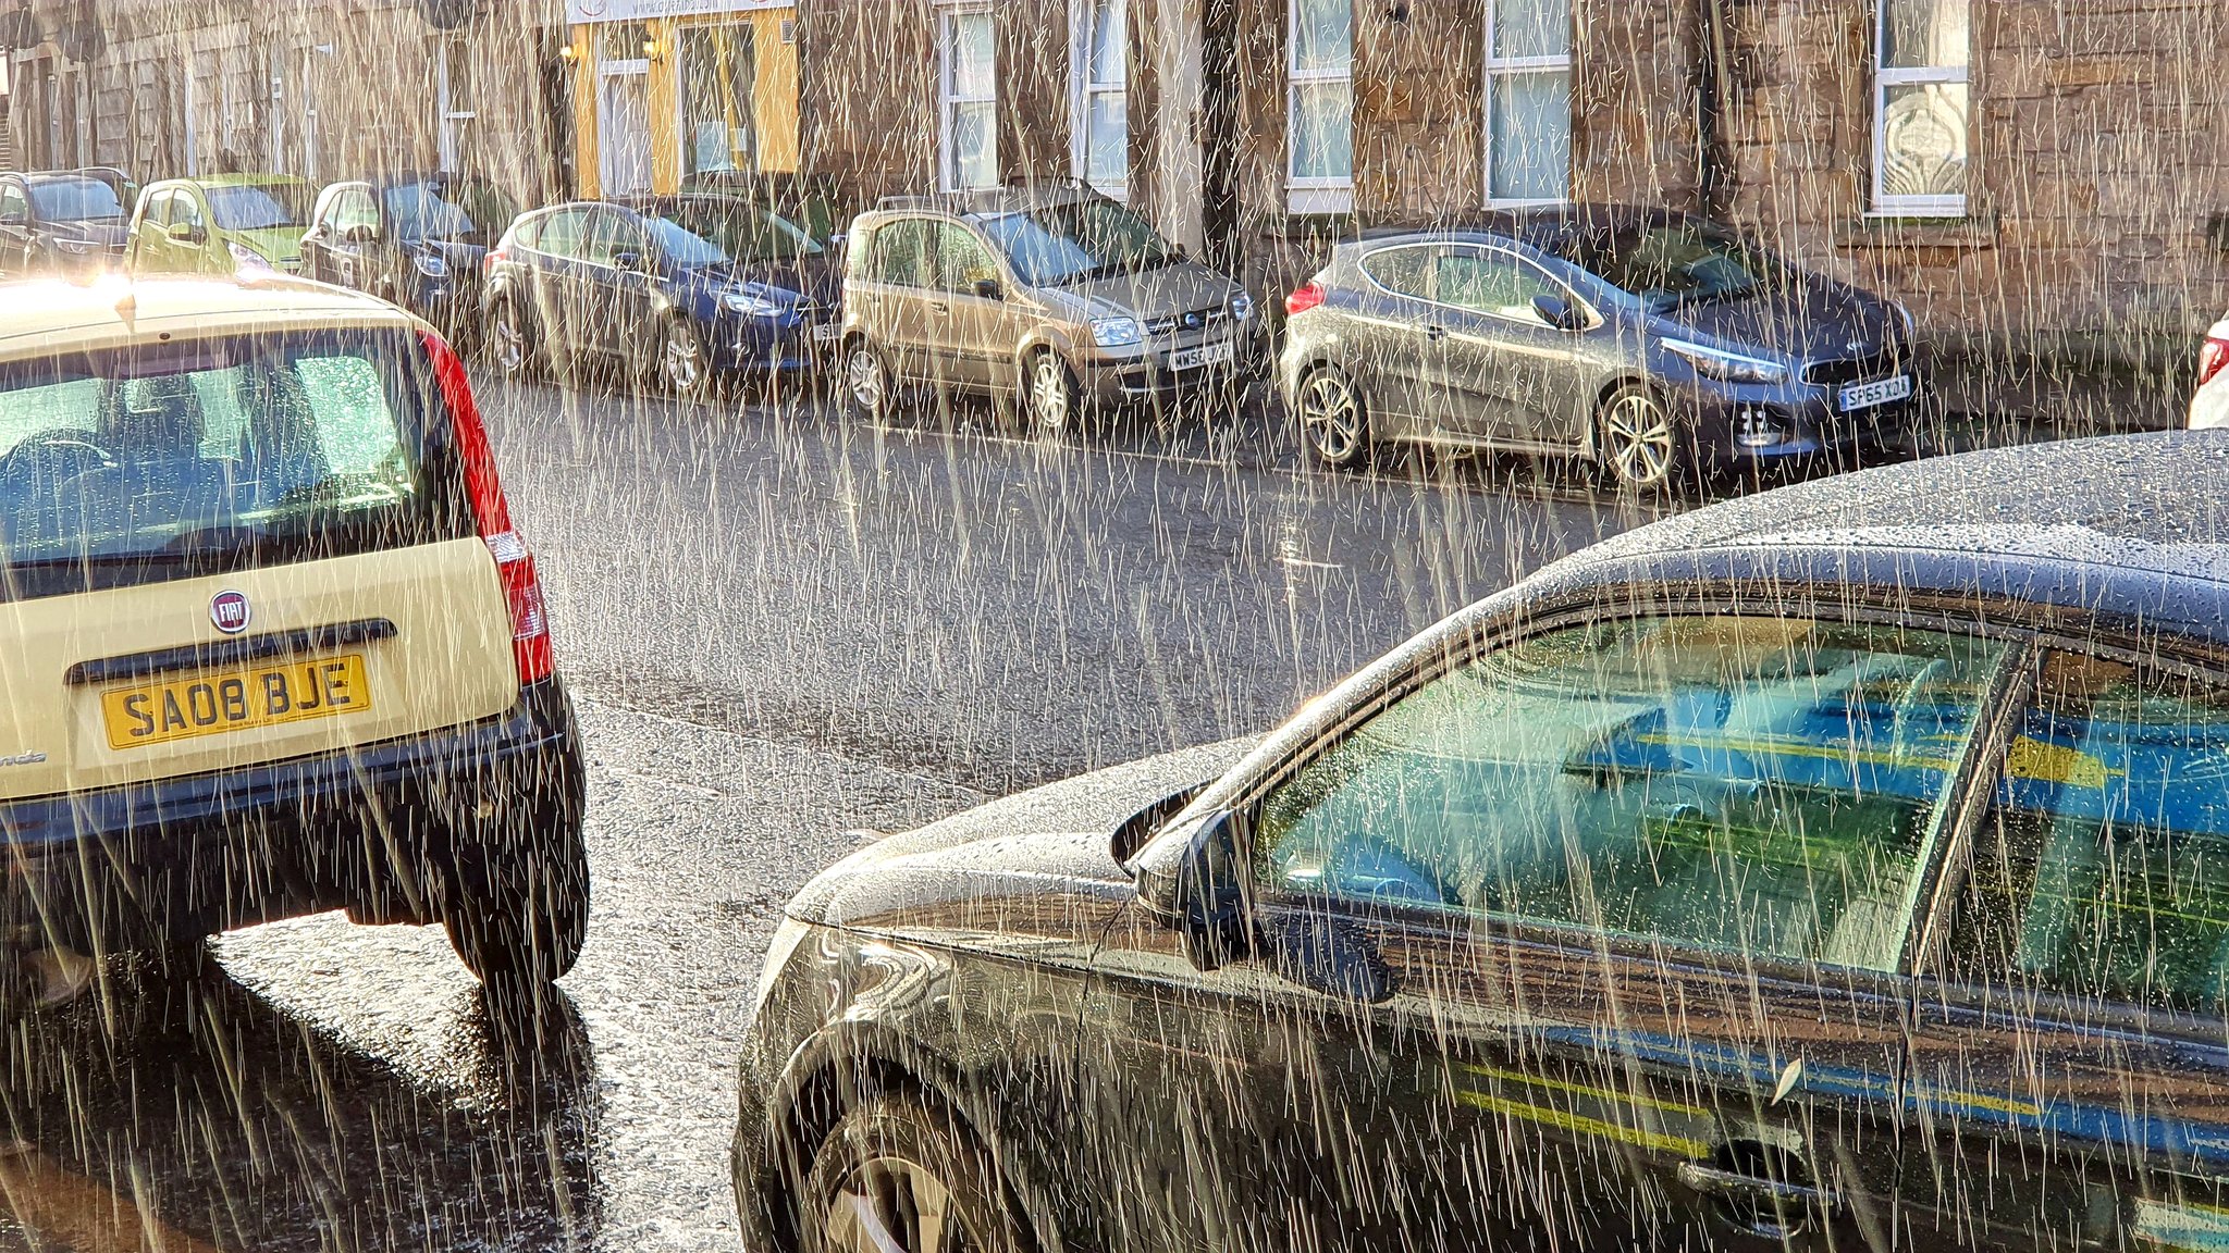
[[1962, 983], [2229, 1006], [2229, 689], [2048, 653], [1950, 932]]

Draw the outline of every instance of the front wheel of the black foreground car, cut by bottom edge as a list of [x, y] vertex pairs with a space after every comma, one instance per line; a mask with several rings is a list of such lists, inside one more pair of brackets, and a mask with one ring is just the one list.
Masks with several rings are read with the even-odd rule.
[[802, 1253], [1023, 1253], [999, 1164], [956, 1117], [898, 1092], [845, 1113], [814, 1155]]

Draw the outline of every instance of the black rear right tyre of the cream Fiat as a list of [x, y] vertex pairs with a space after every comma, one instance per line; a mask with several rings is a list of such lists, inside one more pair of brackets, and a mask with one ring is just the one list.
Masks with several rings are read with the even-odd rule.
[[464, 965], [499, 999], [537, 1001], [588, 939], [588, 847], [577, 780], [559, 796], [497, 807], [459, 838], [441, 923]]

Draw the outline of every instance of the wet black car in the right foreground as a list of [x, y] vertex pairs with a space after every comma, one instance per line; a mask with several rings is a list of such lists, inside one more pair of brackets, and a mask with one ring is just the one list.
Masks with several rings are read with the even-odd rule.
[[2225, 470], [1696, 511], [860, 849], [760, 977], [747, 1246], [2216, 1246]]

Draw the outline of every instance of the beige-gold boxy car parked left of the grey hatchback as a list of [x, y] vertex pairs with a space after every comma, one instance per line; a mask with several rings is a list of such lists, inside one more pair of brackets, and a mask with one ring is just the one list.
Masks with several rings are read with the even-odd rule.
[[1083, 406], [1230, 388], [1253, 299], [1119, 201], [1081, 187], [889, 198], [847, 234], [845, 395], [872, 421], [901, 386], [1001, 401], [1016, 430]]

